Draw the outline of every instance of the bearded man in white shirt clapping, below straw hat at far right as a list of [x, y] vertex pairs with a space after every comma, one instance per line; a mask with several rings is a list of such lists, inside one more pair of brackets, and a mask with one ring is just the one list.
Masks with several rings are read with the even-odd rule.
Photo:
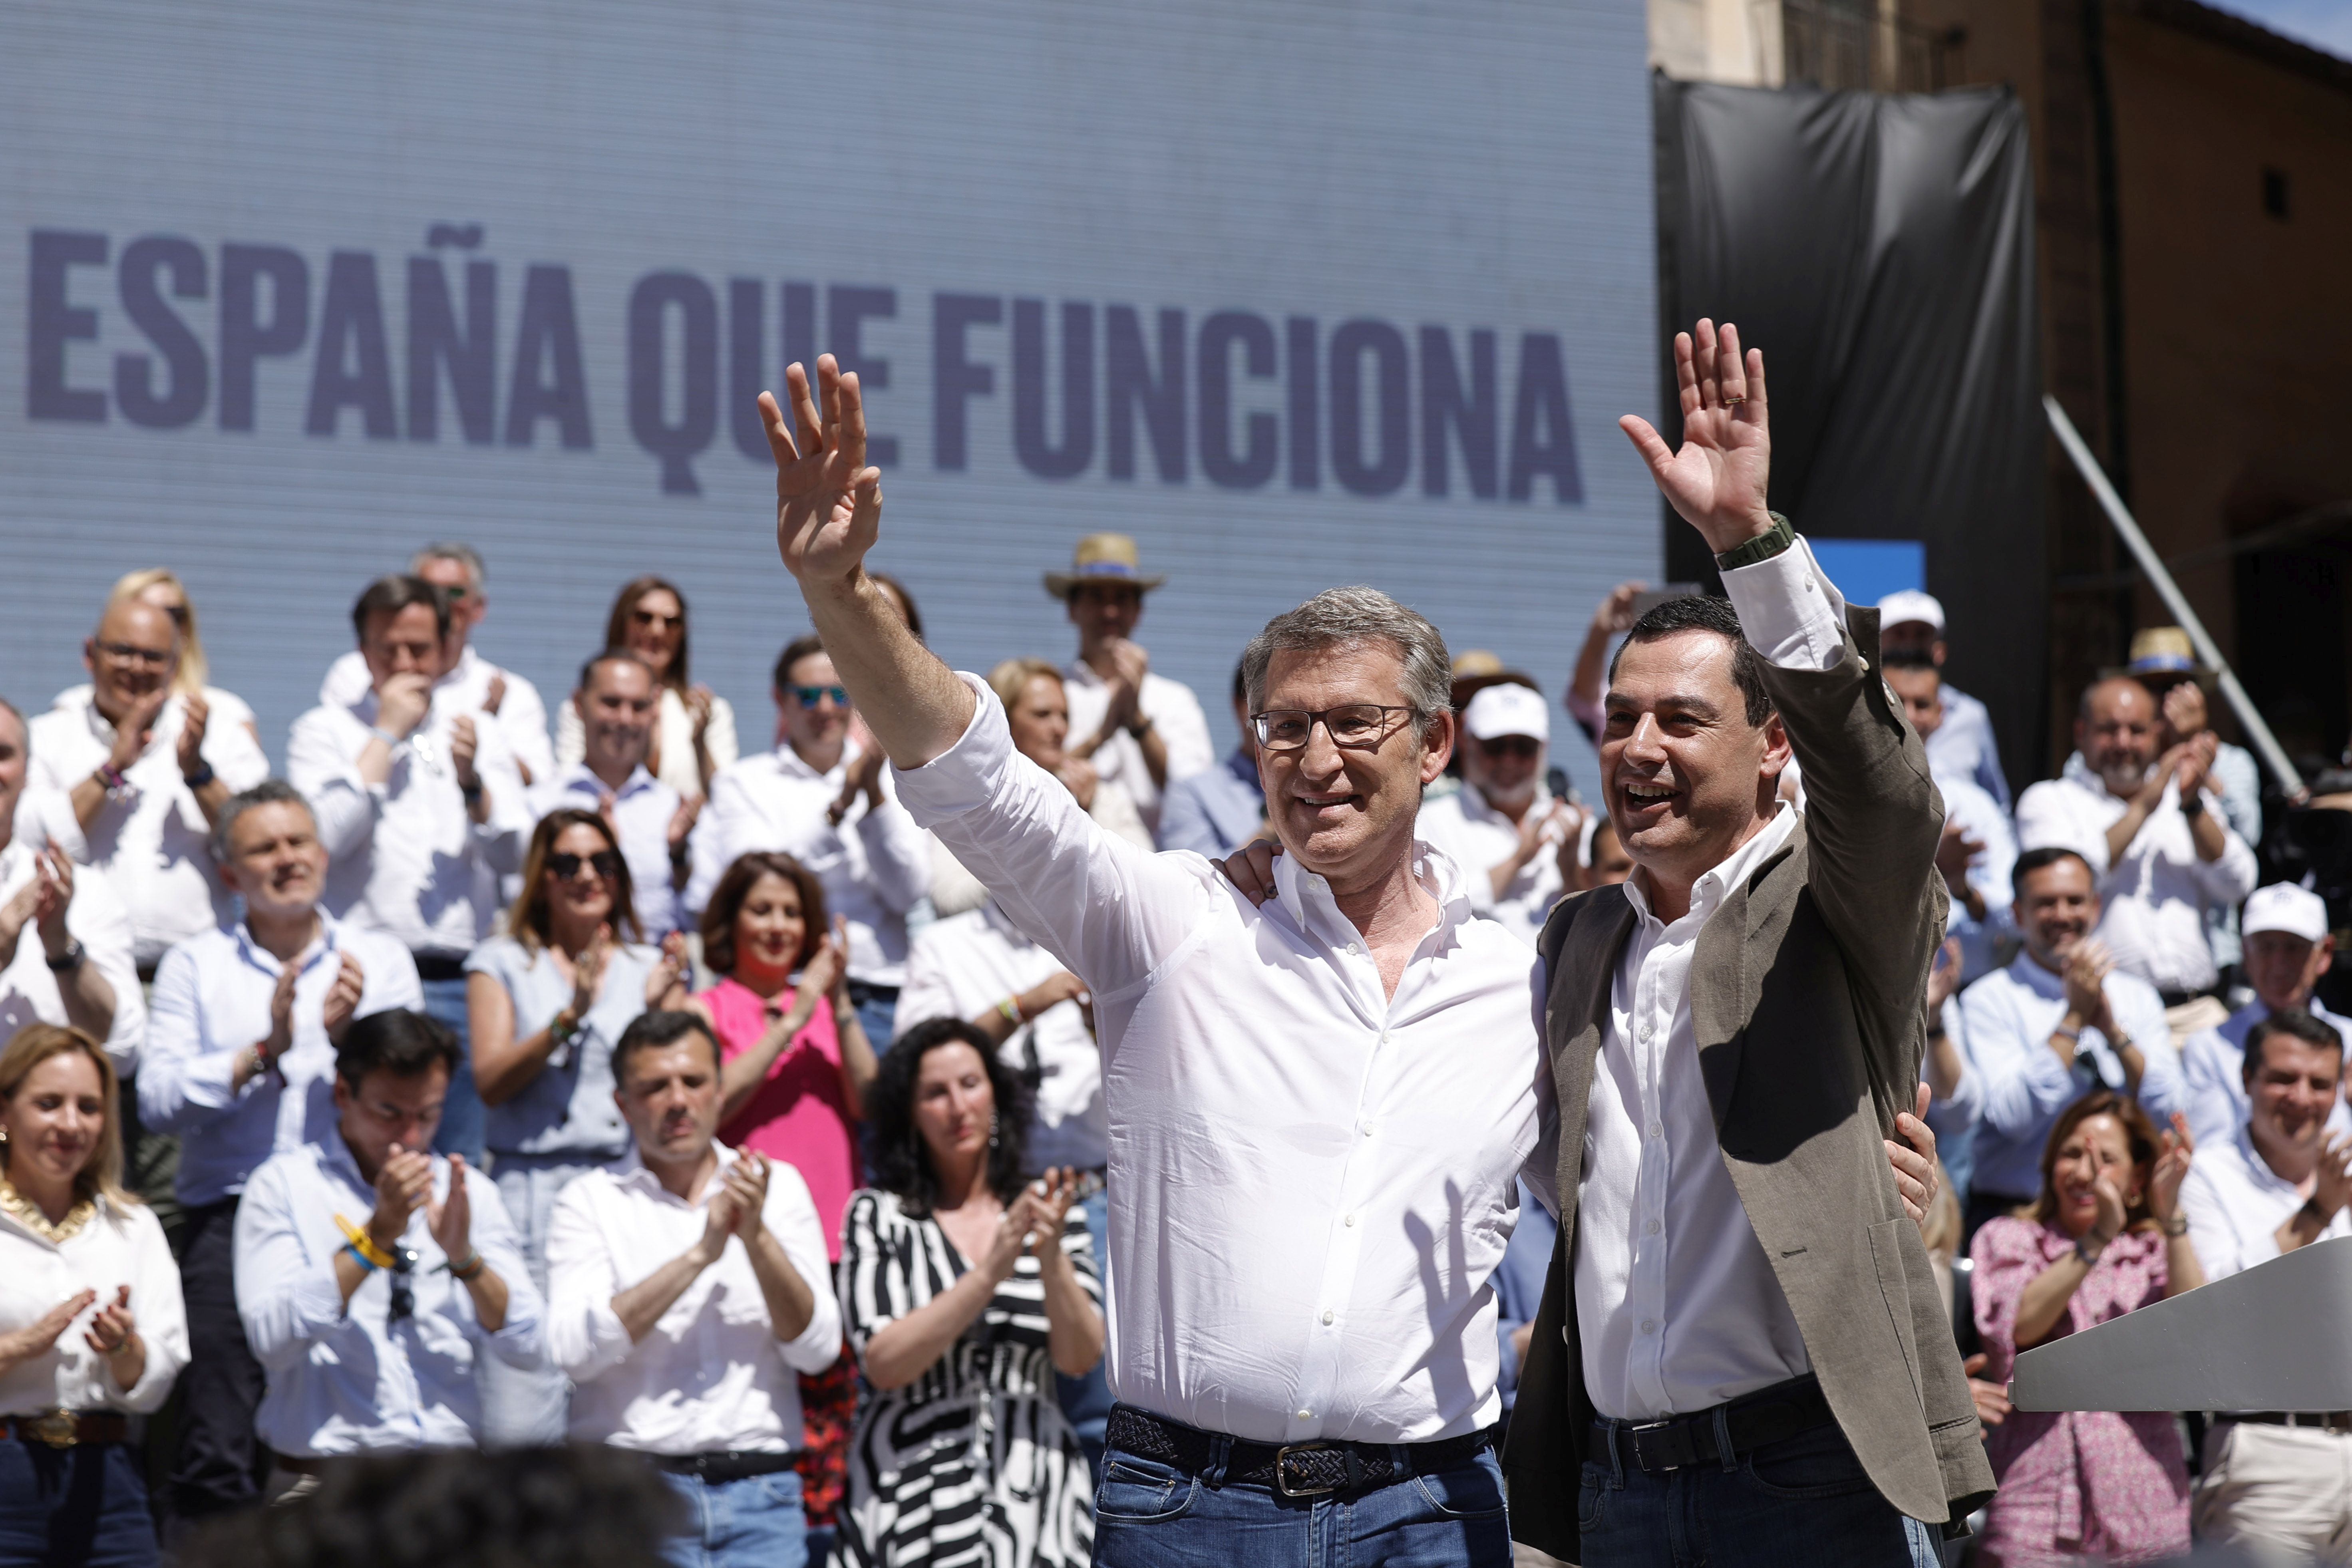
[[[2084, 856], [2105, 900], [2100, 940], [2119, 969], [2157, 987], [2180, 1027], [2220, 978], [2206, 910], [2246, 898], [2256, 863], [2213, 809], [2213, 733], [2161, 757], [2157, 741], [2157, 703], [2140, 682], [2093, 682], [2074, 717], [2079, 762], [2018, 797], [2018, 846], [2060, 844]], [[2216, 1023], [2220, 1009], [2211, 1011], [2194, 1027]]]

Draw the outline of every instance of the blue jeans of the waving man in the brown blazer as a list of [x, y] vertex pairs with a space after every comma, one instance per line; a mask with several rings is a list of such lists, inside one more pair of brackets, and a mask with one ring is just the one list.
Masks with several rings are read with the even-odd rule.
[[1940, 1568], [1938, 1530], [1870, 1483], [1837, 1422], [1661, 1474], [1616, 1436], [1576, 1493], [1585, 1568]]

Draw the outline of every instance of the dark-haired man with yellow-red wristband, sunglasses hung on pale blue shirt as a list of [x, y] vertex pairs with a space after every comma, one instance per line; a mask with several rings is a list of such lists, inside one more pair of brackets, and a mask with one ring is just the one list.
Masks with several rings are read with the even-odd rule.
[[325, 1462], [477, 1448], [485, 1354], [541, 1363], [543, 1305], [496, 1185], [426, 1154], [459, 1060], [437, 1018], [353, 1020], [334, 1053], [336, 1128], [273, 1154], [238, 1204], [238, 1314], [268, 1375], [268, 1497]]

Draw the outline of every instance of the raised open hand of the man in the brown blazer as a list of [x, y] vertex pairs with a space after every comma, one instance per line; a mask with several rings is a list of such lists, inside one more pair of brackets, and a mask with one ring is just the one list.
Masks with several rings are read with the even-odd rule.
[[1651, 477], [1682, 520], [1722, 555], [1771, 531], [1764, 484], [1771, 475], [1771, 428], [1764, 407], [1764, 350], [1740, 355], [1740, 329], [1700, 320], [1696, 336], [1675, 334], [1675, 383], [1682, 390], [1682, 451], [1670, 451], [1646, 418], [1625, 414]]

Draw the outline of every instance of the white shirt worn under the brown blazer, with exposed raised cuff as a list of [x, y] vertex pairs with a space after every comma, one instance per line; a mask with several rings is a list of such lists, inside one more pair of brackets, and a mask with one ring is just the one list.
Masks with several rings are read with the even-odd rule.
[[[1771, 663], [1828, 670], [1844, 656], [1844, 597], [1804, 538], [1726, 571], [1724, 590]], [[1797, 809], [1783, 804], [1691, 886], [1691, 910], [1672, 924], [1651, 914], [1646, 872], [1625, 884], [1637, 919], [1609, 987], [1576, 1211], [1576, 1321], [1585, 1392], [1602, 1415], [1703, 1410], [1811, 1368], [1724, 1171], [1691, 1023], [1700, 929], [1795, 827]]]

